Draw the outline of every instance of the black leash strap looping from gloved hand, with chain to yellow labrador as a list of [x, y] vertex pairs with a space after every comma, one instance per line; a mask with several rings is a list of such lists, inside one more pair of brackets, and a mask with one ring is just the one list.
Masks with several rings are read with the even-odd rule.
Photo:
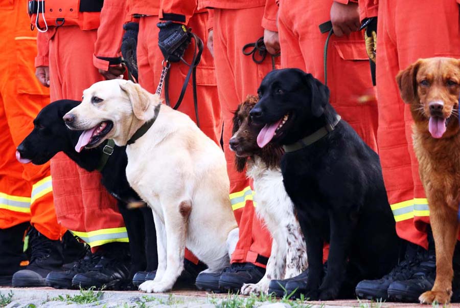
[[[192, 77], [192, 87], [193, 87], [193, 104], [195, 107], [195, 117], [196, 117], [196, 125], [200, 127], [200, 120], [198, 117], [198, 96], [196, 92], [196, 67], [200, 63], [201, 60], [201, 54], [203, 53], [203, 41], [196, 36], [194, 33], [190, 33], [192, 38], [195, 40], [195, 51], [193, 53], [193, 58], [191, 63], [187, 63], [186, 60], [181, 58], [180, 60], [185, 63], [189, 67], [189, 71], [187, 73], [187, 76], [185, 80], [183, 81], [182, 85], [182, 90], [180, 91], [179, 98], [177, 99], [177, 102], [174, 104], [173, 109], [177, 110], [182, 103], [183, 96], [185, 95], [185, 92], [187, 90], [187, 86], [189, 85], [189, 80], [190, 77]], [[158, 89], [157, 89], [157, 94], [161, 94], [162, 87], [163, 85], [165, 86], [165, 101], [168, 106], [171, 106], [171, 101], [169, 99], [169, 67], [171, 65], [170, 62], [166, 61], [166, 63], [163, 64], [163, 70], [162, 70], [162, 78], [160, 78], [160, 83], [158, 84]], [[159, 92], [158, 92], [159, 91]]]

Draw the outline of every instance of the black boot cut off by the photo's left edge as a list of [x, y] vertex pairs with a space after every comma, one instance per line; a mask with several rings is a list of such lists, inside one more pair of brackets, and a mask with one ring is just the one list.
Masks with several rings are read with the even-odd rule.
[[0, 229], [0, 285], [11, 285], [13, 274], [26, 268], [24, 250], [24, 232], [30, 226], [22, 223], [7, 229]]

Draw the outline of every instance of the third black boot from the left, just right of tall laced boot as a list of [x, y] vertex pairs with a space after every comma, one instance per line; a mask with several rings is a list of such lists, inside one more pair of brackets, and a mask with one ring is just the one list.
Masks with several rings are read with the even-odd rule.
[[55, 289], [72, 289], [72, 279], [77, 274], [86, 273], [93, 269], [100, 261], [100, 254], [92, 254], [89, 246], [86, 248], [86, 255], [74, 263], [74, 266], [67, 271], [51, 272], [46, 278], [48, 287]]

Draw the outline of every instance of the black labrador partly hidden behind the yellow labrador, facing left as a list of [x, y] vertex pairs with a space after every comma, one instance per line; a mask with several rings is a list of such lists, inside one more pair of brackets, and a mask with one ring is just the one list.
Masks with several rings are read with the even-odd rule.
[[[118, 200], [118, 208], [125, 221], [131, 254], [130, 276], [136, 272], [155, 270], [158, 265], [156, 232], [152, 210], [148, 207], [128, 209], [127, 203], [139, 203], [141, 197], [129, 186], [126, 179], [126, 147], [113, 146], [113, 152], [102, 166], [104, 144], [96, 148], [75, 150], [82, 131], [69, 130], [62, 117], [80, 101], [58, 100], [45, 106], [34, 120], [34, 129], [17, 151], [22, 161], [35, 165], [48, 162], [56, 153], [63, 151], [81, 168], [88, 171], [102, 167], [102, 184]], [[106, 152], [110, 152], [106, 148]]]

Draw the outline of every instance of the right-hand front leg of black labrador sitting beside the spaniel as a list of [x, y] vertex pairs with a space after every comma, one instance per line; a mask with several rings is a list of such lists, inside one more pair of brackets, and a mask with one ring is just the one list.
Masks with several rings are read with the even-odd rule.
[[[331, 300], [338, 296], [345, 278], [354, 223], [346, 213], [330, 215], [331, 240], [327, 274], [319, 287], [319, 299]], [[308, 248], [307, 248], [308, 249]]]

